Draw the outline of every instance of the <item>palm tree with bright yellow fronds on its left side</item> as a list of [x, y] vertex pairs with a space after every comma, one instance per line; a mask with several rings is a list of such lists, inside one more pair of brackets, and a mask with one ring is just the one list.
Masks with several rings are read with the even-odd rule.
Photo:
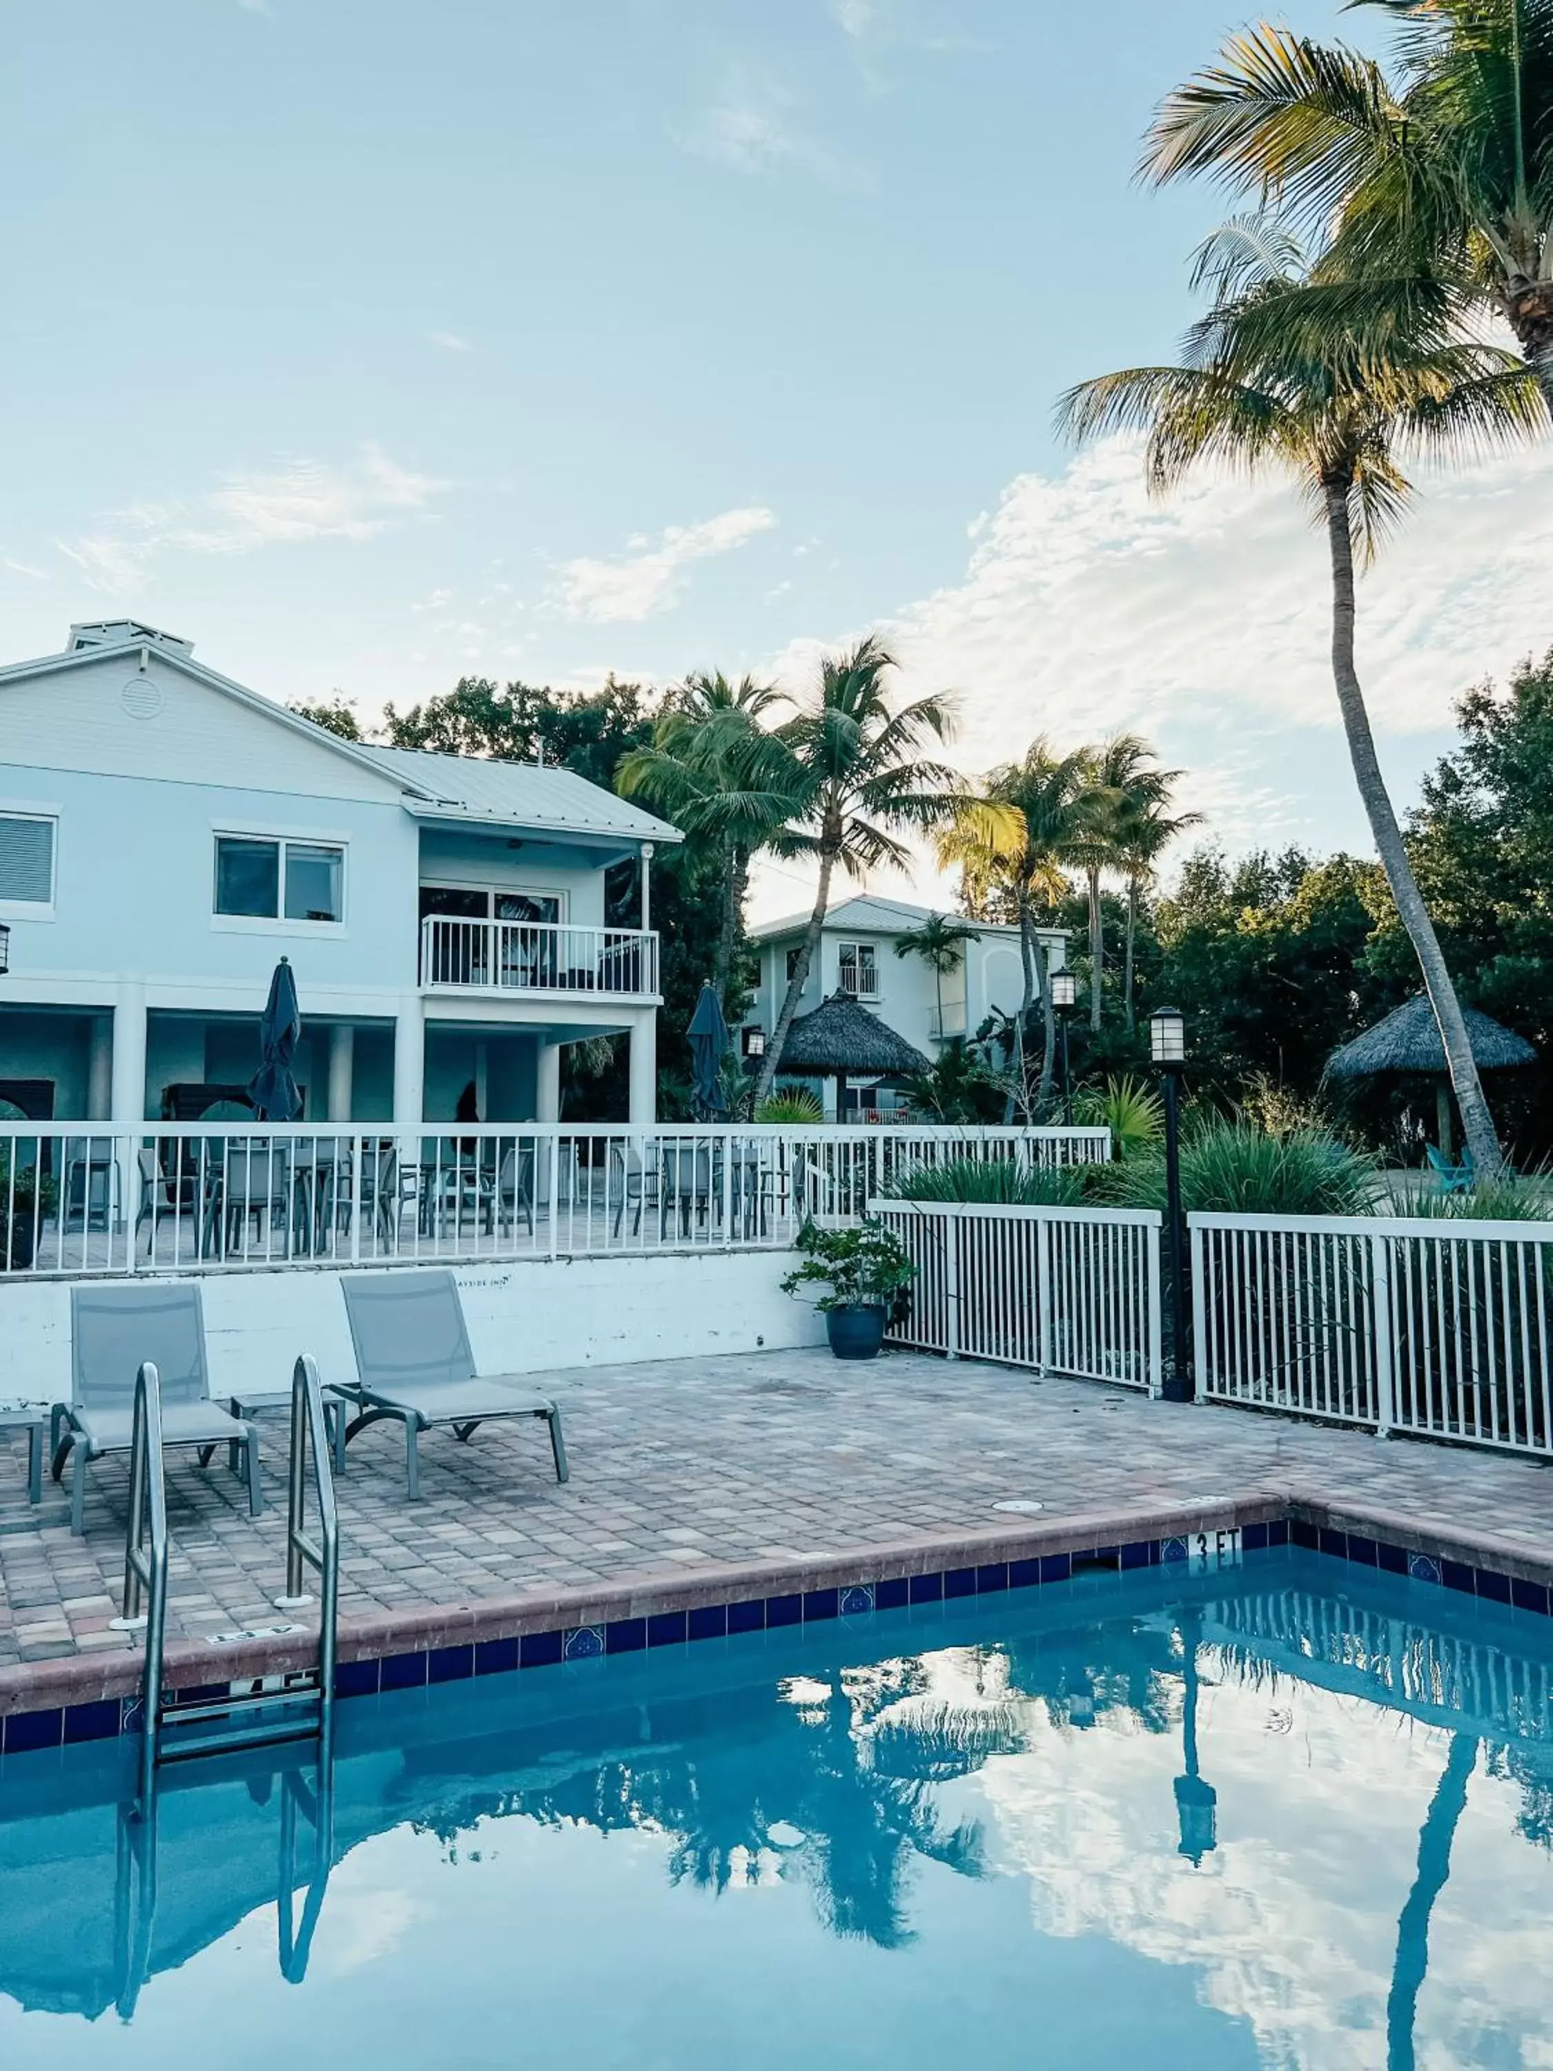
[[1052, 1100], [1056, 1017], [1052, 988], [1046, 982], [1046, 951], [1035, 934], [1035, 901], [1050, 907], [1068, 891], [1064, 870], [1079, 862], [1087, 826], [1089, 766], [1089, 750], [1079, 748], [1062, 756], [1046, 735], [1037, 735], [1019, 762], [1004, 762], [992, 770], [979, 799], [963, 801], [938, 837], [938, 862], [944, 868], [959, 866], [973, 907], [1000, 888], [1013, 895], [1025, 978], [1017, 1023], [1019, 1089], [1023, 1098], [1029, 1085], [1029, 1017], [1039, 998], [1046, 1031], [1035, 1096], [1039, 1114]]

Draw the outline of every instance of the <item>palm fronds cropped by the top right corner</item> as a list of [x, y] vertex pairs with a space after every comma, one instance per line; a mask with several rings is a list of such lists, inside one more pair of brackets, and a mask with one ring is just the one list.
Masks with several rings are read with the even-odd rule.
[[1168, 95], [1143, 170], [1336, 222], [1348, 269], [1458, 282], [1510, 323], [1553, 408], [1553, 6], [1371, 4], [1402, 25], [1398, 85], [1342, 43], [1263, 23]]

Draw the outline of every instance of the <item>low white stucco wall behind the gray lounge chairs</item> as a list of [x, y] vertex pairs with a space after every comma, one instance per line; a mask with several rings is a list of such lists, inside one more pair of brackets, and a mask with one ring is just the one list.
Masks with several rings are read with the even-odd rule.
[[[783, 1294], [787, 1251], [656, 1253], [458, 1265], [480, 1373], [698, 1359], [824, 1342], [824, 1319]], [[290, 1385], [298, 1352], [327, 1381], [354, 1375], [338, 1272], [201, 1276], [211, 1394]], [[70, 1286], [0, 1288], [0, 1406], [70, 1396]]]

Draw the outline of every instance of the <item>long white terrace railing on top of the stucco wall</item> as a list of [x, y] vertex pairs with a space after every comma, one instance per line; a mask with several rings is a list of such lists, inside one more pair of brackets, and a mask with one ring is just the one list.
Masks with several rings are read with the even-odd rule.
[[1104, 1129], [0, 1122], [0, 1280], [791, 1245], [921, 1166]]

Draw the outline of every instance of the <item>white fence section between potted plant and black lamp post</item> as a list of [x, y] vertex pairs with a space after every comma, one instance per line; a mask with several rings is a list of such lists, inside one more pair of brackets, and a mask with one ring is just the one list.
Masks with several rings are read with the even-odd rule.
[[897, 1344], [1160, 1392], [1158, 1209], [870, 1207], [917, 1267]]

